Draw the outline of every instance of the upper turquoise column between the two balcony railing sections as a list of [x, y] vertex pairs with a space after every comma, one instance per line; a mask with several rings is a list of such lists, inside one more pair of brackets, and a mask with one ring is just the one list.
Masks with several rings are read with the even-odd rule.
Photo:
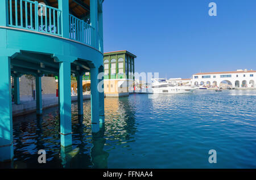
[[61, 10], [60, 22], [62, 36], [69, 38], [69, 4], [67, 0], [58, 0], [59, 10]]

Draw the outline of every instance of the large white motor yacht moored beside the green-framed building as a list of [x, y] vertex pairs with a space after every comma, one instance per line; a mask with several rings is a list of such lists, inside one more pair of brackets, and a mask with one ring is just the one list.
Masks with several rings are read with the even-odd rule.
[[198, 87], [177, 86], [172, 83], [168, 83], [166, 79], [152, 79], [152, 91], [154, 94], [180, 94], [193, 92]]

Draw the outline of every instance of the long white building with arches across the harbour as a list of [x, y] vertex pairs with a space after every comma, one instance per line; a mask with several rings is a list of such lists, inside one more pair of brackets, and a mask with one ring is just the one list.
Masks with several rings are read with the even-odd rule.
[[256, 82], [256, 71], [237, 70], [226, 72], [201, 72], [193, 74], [192, 85], [205, 85], [207, 87], [229, 87], [254, 88]]

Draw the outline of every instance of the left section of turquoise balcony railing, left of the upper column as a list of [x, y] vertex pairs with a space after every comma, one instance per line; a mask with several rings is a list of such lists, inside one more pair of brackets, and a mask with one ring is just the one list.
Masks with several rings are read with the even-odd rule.
[[37, 1], [9, 0], [9, 26], [61, 36], [61, 10]]

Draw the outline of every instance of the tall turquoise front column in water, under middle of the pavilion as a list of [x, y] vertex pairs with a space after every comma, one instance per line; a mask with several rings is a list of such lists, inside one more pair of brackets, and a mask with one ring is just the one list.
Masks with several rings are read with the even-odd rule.
[[60, 144], [63, 147], [72, 145], [71, 125], [71, 63], [60, 62]]

